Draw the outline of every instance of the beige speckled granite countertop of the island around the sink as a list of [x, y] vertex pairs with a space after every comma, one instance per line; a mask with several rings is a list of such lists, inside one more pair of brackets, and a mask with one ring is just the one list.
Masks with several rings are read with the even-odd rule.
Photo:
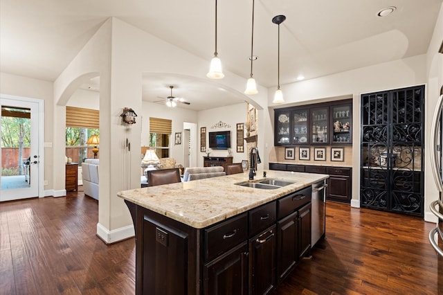
[[124, 190], [117, 195], [195, 229], [203, 229], [329, 177], [313, 173], [259, 170], [254, 182], [264, 178], [263, 171], [266, 171], [266, 178], [285, 179], [294, 181], [294, 184], [275, 190], [235, 185], [248, 181], [248, 171], [245, 171], [178, 184]]

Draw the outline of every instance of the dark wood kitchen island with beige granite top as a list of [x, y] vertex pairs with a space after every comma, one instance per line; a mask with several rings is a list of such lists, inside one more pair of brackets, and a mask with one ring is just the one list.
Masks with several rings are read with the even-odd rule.
[[136, 232], [136, 294], [263, 294], [311, 248], [311, 185], [327, 175], [266, 170], [119, 192]]

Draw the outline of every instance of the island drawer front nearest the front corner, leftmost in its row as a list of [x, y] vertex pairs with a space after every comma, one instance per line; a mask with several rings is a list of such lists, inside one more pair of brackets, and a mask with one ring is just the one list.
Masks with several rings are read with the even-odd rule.
[[248, 213], [243, 213], [233, 219], [205, 229], [205, 261], [213, 260], [247, 238]]

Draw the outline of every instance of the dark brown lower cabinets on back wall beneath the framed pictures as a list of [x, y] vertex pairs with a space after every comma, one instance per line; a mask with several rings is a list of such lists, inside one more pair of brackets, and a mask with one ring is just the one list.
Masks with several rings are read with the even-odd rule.
[[350, 204], [352, 199], [352, 168], [269, 163], [270, 170], [327, 174], [326, 199]]

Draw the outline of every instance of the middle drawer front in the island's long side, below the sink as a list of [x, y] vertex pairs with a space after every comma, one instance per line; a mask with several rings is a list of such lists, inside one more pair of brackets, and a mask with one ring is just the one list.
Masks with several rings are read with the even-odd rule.
[[277, 203], [264, 204], [249, 211], [249, 236], [255, 235], [275, 223]]

